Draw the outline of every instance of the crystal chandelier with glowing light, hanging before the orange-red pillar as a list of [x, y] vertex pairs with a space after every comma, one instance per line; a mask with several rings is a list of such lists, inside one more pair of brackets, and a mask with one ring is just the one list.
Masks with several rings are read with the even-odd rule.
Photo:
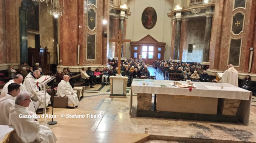
[[55, 18], [61, 17], [64, 14], [64, 0], [63, 5], [60, 5], [59, 0], [51, 0], [51, 2], [52, 6], [51, 8], [48, 8], [48, 13], [53, 15]]

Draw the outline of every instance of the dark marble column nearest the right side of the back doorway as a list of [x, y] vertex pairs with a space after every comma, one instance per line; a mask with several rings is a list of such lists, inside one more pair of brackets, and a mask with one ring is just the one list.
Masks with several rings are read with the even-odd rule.
[[174, 60], [179, 60], [180, 30], [181, 30], [181, 19], [177, 18], [176, 29], [175, 29], [175, 41], [174, 41], [174, 55], [173, 55]]

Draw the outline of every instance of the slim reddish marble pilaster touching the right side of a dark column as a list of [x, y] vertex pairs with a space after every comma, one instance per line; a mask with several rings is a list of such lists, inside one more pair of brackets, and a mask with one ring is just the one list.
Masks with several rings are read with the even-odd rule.
[[182, 60], [183, 49], [185, 50], [187, 46], [187, 30], [188, 30], [188, 20], [182, 19], [181, 22], [181, 33], [180, 33], [180, 51], [179, 51], [179, 60]]

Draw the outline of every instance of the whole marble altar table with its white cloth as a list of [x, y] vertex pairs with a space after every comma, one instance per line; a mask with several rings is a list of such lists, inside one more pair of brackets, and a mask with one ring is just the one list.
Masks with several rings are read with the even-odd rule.
[[[250, 91], [228, 83], [193, 82], [193, 86], [196, 88], [188, 89], [178, 85], [173, 86], [173, 82], [134, 79], [131, 85], [130, 115], [133, 94], [136, 93], [137, 115], [138, 113], [152, 113], [151, 111], [154, 111], [157, 114], [164, 112], [190, 114], [190, 116], [207, 115], [203, 118], [236, 117], [237, 120], [248, 125], [252, 96]], [[178, 82], [182, 85], [187, 84], [187, 81]], [[154, 104], [152, 104], [153, 96]]]

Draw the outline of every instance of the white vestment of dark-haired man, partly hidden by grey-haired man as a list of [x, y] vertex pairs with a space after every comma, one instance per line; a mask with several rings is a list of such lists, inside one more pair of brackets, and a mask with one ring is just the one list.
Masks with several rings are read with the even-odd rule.
[[[34, 107], [34, 104], [33, 102], [30, 102], [32, 104], [29, 104], [32, 105], [31, 108], [27, 107], [28, 111], [31, 113], [31, 114], [35, 114], [35, 107]], [[1, 98], [0, 99], [0, 109], [1, 109], [1, 112], [0, 112], [0, 125], [9, 125], [9, 112], [11, 110], [11, 107], [14, 106], [15, 104], [15, 97], [9, 95], [8, 93], [6, 94], [6, 96], [4, 98]]]

